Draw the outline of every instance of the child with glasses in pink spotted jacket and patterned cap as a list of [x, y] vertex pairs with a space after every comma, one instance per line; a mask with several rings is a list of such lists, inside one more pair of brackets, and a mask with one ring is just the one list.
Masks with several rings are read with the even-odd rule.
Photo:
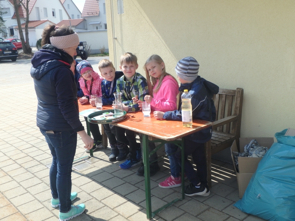
[[[102, 96], [101, 82], [104, 79], [93, 70], [91, 64], [86, 60], [81, 61], [77, 65], [76, 70], [81, 75], [79, 83], [84, 93], [84, 96], [80, 98], [80, 103], [83, 105], [90, 102], [91, 105], [95, 105], [95, 100], [90, 100], [90, 97], [91, 95], [96, 95], [97, 97]], [[99, 131], [98, 124], [89, 123], [89, 129], [94, 139], [92, 150], [95, 151], [103, 148], [102, 136]], [[87, 150], [86, 152], [89, 152], [89, 150]]]

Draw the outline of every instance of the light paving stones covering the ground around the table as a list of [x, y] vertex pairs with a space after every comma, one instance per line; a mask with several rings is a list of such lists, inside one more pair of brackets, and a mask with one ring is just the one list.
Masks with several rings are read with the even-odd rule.
[[[98, 71], [97, 65], [102, 58], [90, 57], [88, 61]], [[37, 98], [30, 67], [30, 60], [0, 61], [0, 87], [3, 95], [0, 98], [2, 221], [58, 220], [58, 208], [52, 208], [50, 204], [51, 155], [36, 126]], [[78, 136], [76, 158], [84, 151], [83, 146]], [[108, 147], [94, 152], [94, 157], [89, 162], [81, 160], [73, 164], [72, 191], [78, 192], [73, 204], [86, 204], [85, 212], [73, 220], [146, 220], [144, 178], [135, 174], [137, 168], [122, 170], [119, 169], [121, 162], [109, 162], [110, 153]], [[159, 156], [164, 154], [164, 149], [158, 151]], [[170, 175], [167, 157], [161, 159], [159, 165], [160, 171], [151, 177], [153, 208], [181, 196], [180, 187], [158, 187], [158, 183]], [[233, 207], [239, 198], [232, 165], [212, 159], [212, 174], [210, 196], [186, 196], [184, 200], [158, 213], [153, 220], [262, 220]]]

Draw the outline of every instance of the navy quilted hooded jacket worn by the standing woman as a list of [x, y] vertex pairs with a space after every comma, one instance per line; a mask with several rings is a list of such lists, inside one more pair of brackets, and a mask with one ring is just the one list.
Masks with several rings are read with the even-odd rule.
[[37, 126], [47, 131], [84, 130], [79, 120], [77, 86], [58, 52], [41, 49], [31, 60], [38, 98]]

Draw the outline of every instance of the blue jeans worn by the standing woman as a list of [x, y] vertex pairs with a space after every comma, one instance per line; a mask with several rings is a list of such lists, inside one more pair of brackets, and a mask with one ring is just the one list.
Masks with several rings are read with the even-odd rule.
[[60, 212], [71, 210], [72, 166], [77, 147], [77, 133], [71, 131], [54, 131], [45, 136], [52, 155], [52, 164], [49, 171], [50, 189], [54, 199], [59, 199]]

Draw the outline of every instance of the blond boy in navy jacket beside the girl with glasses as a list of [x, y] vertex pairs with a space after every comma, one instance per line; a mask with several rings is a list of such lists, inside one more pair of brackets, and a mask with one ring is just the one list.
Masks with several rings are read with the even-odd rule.
[[[115, 100], [114, 93], [117, 90], [117, 80], [123, 76], [122, 71], [116, 71], [113, 63], [110, 60], [103, 59], [98, 64], [99, 71], [104, 80], [101, 82], [102, 105], [112, 105]], [[109, 156], [109, 161], [124, 160], [129, 154], [129, 149], [126, 144], [129, 144], [125, 136], [125, 130], [118, 129], [111, 124], [103, 124], [106, 136], [109, 139], [112, 153]], [[116, 129], [117, 128], [117, 129]], [[120, 137], [120, 143], [116, 137]]]

